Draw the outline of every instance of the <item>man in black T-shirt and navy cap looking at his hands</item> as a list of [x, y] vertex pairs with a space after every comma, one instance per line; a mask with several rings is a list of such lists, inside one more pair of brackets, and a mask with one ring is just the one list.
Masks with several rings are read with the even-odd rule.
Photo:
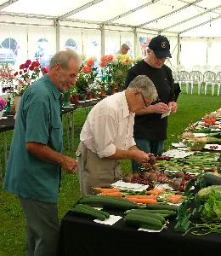
[[[139, 149], [146, 153], [161, 155], [163, 143], [167, 138], [167, 117], [162, 117], [162, 114], [177, 111], [172, 71], [164, 65], [167, 58], [171, 58], [168, 39], [161, 35], [152, 38], [147, 54], [143, 61], [128, 71], [125, 85], [127, 87], [138, 75], [148, 76], [155, 84], [159, 98], [149, 107], [136, 113], [133, 137]], [[133, 172], [135, 171], [139, 171], [139, 166], [133, 163]]]

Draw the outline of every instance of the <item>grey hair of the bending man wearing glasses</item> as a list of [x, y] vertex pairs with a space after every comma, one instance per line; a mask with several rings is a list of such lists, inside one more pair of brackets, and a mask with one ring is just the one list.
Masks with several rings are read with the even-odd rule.
[[138, 89], [145, 98], [151, 98], [153, 102], [156, 101], [158, 96], [154, 83], [144, 75], [139, 75], [133, 79], [128, 85], [128, 89]]

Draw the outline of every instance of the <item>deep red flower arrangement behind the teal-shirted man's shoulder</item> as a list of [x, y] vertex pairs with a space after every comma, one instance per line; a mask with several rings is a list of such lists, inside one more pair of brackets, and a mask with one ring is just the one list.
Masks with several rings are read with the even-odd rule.
[[21, 96], [29, 85], [46, 73], [48, 73], [47, 68], [41, 67], [38, 61], [27, 60], [20, 65], [20, 71], [14, 73], [14, 78], [18, 83], [14, 93]]

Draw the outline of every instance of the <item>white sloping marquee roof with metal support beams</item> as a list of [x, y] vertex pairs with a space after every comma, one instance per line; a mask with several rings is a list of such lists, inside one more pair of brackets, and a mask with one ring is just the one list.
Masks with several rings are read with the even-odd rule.
[[[212, 36], [220, 30], [221, 0], [0, 0], [0, 15], [96, 22]], [[196, 35], [197, 32], [197, 35]]]

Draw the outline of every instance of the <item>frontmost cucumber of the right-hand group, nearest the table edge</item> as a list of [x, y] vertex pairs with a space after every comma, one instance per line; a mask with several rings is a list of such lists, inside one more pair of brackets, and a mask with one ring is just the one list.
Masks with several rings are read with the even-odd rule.
[[149, 230], [161, 230], [163, 224], [156, 218], [150, 218], [141, 214], [129, 213], [123, 218], [126, 224], [144, 227]]

